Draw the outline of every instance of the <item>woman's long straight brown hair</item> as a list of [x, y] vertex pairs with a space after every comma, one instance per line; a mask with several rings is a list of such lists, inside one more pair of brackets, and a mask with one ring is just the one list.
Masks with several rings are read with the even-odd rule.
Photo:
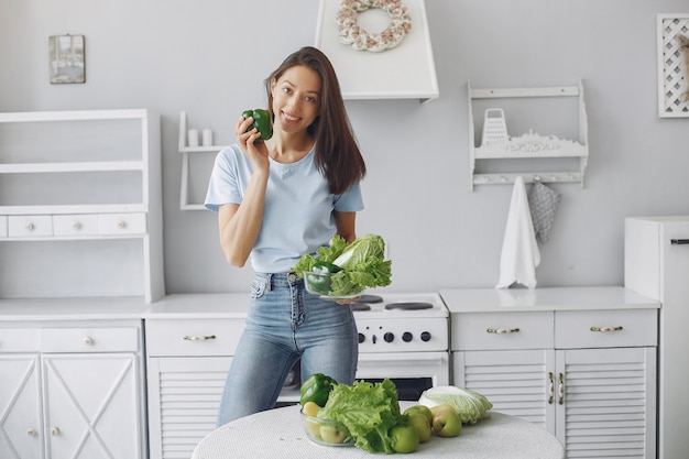
[[337, 75], [321, 51], [304, 46], [287, 56], [265, 79], [271, 117], [275, 117], [271, 85], [295, 65], [311, 68], [320, 76], [319, 114], [307, 130], [316, 139], [316, 167], [328, 181], [330, 193], [340, 195], [365, 176], [367, 166], [344, 109]]

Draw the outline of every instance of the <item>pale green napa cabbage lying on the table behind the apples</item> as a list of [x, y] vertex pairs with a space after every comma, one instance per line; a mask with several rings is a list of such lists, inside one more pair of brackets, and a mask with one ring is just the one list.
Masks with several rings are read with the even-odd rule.
[[482, 394], [453, 385], [430, 387], [422, 393], [418, 403], [428, 407], [452, 405], [464, 424], [475, 424], [479, 419], [491, 417], [488, 411], [493, 407]]

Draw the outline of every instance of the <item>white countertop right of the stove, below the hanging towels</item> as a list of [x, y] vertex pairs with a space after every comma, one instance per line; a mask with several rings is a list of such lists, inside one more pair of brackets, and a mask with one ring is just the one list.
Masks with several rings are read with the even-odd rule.
[[617, 286], [441, 289], [450, 313], [657, 309], [660, 303]]

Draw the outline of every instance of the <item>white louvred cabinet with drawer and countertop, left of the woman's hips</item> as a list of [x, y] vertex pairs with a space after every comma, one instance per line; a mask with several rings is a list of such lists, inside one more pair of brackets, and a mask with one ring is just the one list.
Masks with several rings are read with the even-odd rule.
[[169, 295], [146, 315], [151, 459], [188, 459], [216, 428], [248, 302], [243, 294]]

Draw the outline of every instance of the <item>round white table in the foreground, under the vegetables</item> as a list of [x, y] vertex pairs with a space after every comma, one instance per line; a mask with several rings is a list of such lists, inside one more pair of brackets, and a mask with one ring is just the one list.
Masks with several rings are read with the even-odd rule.
[[[411, 405], [401, 403], [402, 408]], [[271, 409], [237, 419], [206, 436], [192, 459], [372, 459], [357, 447], [327, 447], [310, 441], [299, 417], [299, 406]], [[433, 436], [409, 459], [565, 459], [562, 445], [535, 424], [493, 413], [490, 419], [464, 425], [458, 437]]]

